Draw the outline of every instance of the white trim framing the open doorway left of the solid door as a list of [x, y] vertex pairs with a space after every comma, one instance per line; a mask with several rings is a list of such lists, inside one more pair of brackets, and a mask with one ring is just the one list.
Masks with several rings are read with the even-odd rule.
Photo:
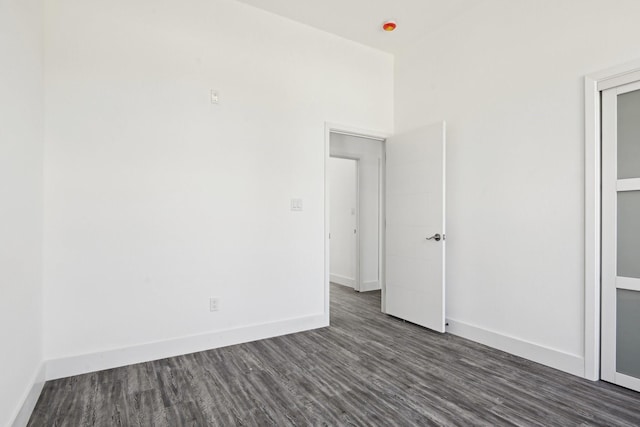
[[[332, 123], [332, 122], [325, 122], [324, 124], [324, 317], [325, 317], [325, 322], [327, 325], [329, 325], [330, 322], [330, 297], [329, 297], [329, 290], [330, 290], [330, 265], [329, 265], [329, 261], [330, 261], [330, 253], [329, 253], [329, 248], [330, 248], [330, 242], [329, 242], [329, 225], [330, 225], [330, 211], [329, 211], [329, 174], [327, 173], [328, 170], [328, 163], [329, 163], [329, 157], [331, 156], [331, 133], [341, 133], [341, 134], [348, 134], [351, 136], [358, 136], [358, 137], [362, 137], [362, 138], [368, 138], [368, 139], [374, 139], [374, 140], [380, 140], [380, 141], [384, 141], [389, 137], [389, 134], [386, 132], [381, 132], [381, 131], [371, 131], [371, 130], [366, 130], [366, 129], [361, 129], [361, 128], [356, 128], [353, 126], [348, 126], [348, 125], [343, 125], [343, 124], [339, 124], [339, 123]], [[384, 143], [384, 142], [383, 142]], [[384, 150], [383, 150], [383, 156], [384, 156]], [[384, 169], [384, 167], [383, 167]], [[381, 192], [382, 192], [382, 200], [383, 200], [383, 205], [382, 205], [382, 209], [384, 209], [384, 188], [381, 188]], [[381, 241], [381, 245], [382, 245], [382, 249], [380, 251], [380, 254], [384, 253], [384, 233], [381, 234], [380, 236], [380, 241]], [[381, 258], [379, 260], [379, 263], [384, 262], [384, 258], [382, 258], [382, 255], [380, 255]], [[383, 270], [384, 271], [384, 270]], [[384, 276], [381, 277], [381, 287], [382, 287], [382, 292], [384, 294]], [[384, 300], [384, 298], [383, 298]], [[382, 307], [383, 312], [384, 312], [384, 306]]]

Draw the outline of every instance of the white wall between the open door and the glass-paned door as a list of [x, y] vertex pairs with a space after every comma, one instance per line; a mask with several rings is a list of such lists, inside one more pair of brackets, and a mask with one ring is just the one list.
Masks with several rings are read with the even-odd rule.
[[578, 374], [583, 77], [638, 58], [638, 16], [637, 1], [488, 0], [396, 57], [396, 131], [448, 122], [447, 317]]

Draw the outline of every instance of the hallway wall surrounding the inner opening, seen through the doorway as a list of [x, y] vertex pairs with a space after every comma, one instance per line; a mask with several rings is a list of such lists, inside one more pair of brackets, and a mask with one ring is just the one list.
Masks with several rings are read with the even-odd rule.
[[360, 275], [361, 290], [363, 291], [380, 289], [378, 262], [380, 256], [379, 164], [382, 159], [382, 150], [381, 141], [337, 133], [331, 134], [331, 155], [359, 159]]

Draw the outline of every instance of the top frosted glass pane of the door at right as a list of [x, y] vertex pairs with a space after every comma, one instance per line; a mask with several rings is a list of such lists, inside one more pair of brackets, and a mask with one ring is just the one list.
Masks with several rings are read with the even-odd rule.
[[640, 178], [640, 90], [618, 95], [618, 179]]

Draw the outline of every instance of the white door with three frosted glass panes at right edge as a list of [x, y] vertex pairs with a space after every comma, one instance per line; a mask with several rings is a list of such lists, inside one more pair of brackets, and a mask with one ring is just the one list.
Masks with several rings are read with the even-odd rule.
[[640, 82], [602, 94], [602, 379], [640, 391]]

